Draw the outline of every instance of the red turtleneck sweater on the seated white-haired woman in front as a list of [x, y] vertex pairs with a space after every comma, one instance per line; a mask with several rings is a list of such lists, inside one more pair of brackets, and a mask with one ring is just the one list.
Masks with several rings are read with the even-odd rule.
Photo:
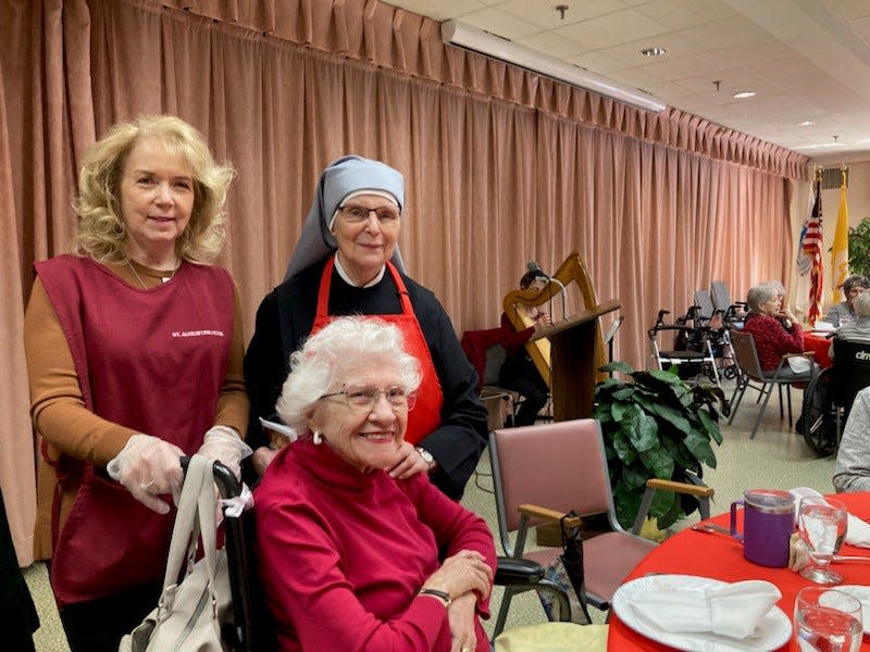
[[[325, 442], [286, 447], [254, 493], [257, 548], [281, 650], [449, 652], [438, 600], [417, 590], [446, 556], [477, 550], [495, 568], [486, 523], [430, 484], [362, 474]], [[488, 600], [478, 616], [488, 617]], [[476, 624], [476, 652], [488, 652]]]

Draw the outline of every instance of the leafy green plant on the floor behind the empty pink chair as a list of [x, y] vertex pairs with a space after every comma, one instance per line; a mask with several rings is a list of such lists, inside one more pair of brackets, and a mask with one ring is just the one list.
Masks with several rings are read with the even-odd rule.
[[[617, 517], [630, 528], [649, 478], [689, 481], [704, 465], [716, 468], [711, 443], [722, 443], [719, 418], [728, 411], [718, 387], [689, 387], [672, 371], [635, 372], [612, 362], [608, 378], [595, 388], [594, 416], [601, 424]], [[721, 406], [721, 410], [720, 410]], [[697, 506], [670, 491], [657, 491], [649, 516], [664, 529]]]

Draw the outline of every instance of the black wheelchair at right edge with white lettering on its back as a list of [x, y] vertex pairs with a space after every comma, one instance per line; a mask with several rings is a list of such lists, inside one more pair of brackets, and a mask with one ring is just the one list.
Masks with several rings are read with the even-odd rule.
[[804, 390], [796, 425], [819, 456], [836, 451], [855, 394], [870, 387], [870, 343], [833, 337], [833, 366], [823, 369]]

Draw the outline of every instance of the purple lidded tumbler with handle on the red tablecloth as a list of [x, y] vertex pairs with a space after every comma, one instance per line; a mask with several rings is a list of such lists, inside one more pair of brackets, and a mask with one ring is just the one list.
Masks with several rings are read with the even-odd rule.
[[[743, 506], [743, 534], [737, 507]], [[780, 489], [750, 489], [731, 503], [731, 536], [743, 541], [743, 556], [761, 566], [788, 565], [788, 539], [795, 531], [795, 499]]]

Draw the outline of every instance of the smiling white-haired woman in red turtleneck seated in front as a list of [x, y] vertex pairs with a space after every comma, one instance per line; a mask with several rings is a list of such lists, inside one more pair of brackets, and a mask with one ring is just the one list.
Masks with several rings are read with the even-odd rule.
[[290, 367], [277, 412], [301, 435], [254, 493], [278, 648], [488, 651], [480, 617], [496, 556], [486, 523], [425, 474], [385, 471], [420, 383], [399, 329], [337, 318]]

